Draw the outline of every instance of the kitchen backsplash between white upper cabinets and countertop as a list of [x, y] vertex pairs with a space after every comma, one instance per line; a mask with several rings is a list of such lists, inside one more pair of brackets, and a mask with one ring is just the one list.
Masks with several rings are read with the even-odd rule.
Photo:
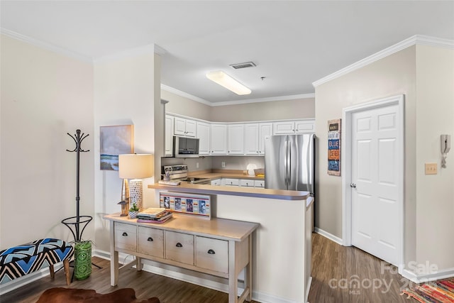
[[[222, 163], [225, 167], [222, 167]], [[199, 167], [197, 167], [199, 163]], [[265, 167], [264, 157], [245, 156], [209, 156], [204, 158], [161, 158], [161, 165], [187, 164], [189, 172], [196, 170], [246, 170], [248, 164], [255, 164], [257, 168]]]

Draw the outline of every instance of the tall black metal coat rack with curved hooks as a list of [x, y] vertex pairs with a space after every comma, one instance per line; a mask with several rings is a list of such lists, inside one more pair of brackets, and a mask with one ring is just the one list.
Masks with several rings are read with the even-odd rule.
[[[93, 217], [92, 216], [80, 216], [80, 211], [79, 211], [79, 203], [80, 203], [80, 196], [79, 196], [79, 171], [80, 171], [80, 165], [79, 165], [79, 160], [80, 160], [80, 153], [87, 153], [90, 150], [83, 150], [80, 145], [82, 144], [82, 141], [84, 141], [84, 138], [87, 138], [89, 135], [85, 135], [84, 133], [80, 133], [80, 129], [76, 130], [76, 133], [74, 136], [71, 136], [70, 133], [67, 133], [68, 136], [70, 136], [74, 142], [76, 143], [76, 147], [74, 150], [66, 150], [69, 151], [70, 153], [76, 153], [76, 216], [71, 216], [69, 218], [63, 219], [62, 224], [65, 224], [67, 228], [70, 228], [70, 231], [72, 233], [72, 236], [74, 237], [74, 242], [79, 242], [82, 241], [82, 233], [84, 232], [85, 227], [89, 224], [90, 221], [92, 221]], [[82, 227], [82, 229], [81, 229]]]

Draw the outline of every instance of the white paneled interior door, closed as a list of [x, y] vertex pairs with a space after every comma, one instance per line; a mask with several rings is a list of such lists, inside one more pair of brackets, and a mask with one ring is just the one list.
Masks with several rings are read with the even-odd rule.
[[402, 123], [397, 104], [351, 116], [352, 245], [398, 265], [399, 146]]

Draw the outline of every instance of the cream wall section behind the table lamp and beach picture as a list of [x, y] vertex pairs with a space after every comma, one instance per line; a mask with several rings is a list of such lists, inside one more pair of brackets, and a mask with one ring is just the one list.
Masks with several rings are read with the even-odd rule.
[[[133, 124], [134, 152], [154, 153], [155, 87], [160, 91], [160, 80], [156, 84], [154, 69], [153, 49], [142, 55], [94, 64], [96, 250], [109, 251], [109, 228], [102, 216], [120, 211], [117, 203], [121, 197], [118, 172], [99, 170], [99, 126]], [[159, 97], [157, 103], [160, 103]], [[154, 202], [154, 193], [146, 189], [152, 182], [154, 178], [143, 180], [144, 207]]]

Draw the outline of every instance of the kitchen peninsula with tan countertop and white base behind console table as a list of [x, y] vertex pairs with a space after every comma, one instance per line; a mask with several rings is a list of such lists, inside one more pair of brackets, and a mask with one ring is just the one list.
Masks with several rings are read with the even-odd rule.
[[159, 201], [160, 192], [210, 195], [214, 218], [260, 224], [253, 235], [253, 299], [306, 302], [311, 283], [314, 202], [309, 192], [184, 182], [178, 186], [149, 184], [148, 189], [155, 190], [155, 201]]

